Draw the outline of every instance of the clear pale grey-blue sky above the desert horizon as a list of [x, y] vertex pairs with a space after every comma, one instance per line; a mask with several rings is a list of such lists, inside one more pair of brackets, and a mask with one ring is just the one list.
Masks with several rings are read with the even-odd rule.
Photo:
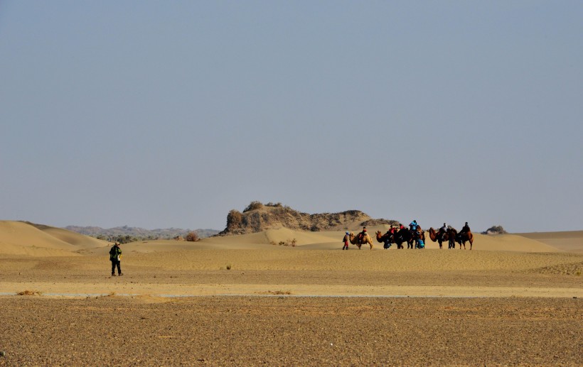
[[583, 1], [0, 1], [0, 219], [253, 200], [583, 229]]

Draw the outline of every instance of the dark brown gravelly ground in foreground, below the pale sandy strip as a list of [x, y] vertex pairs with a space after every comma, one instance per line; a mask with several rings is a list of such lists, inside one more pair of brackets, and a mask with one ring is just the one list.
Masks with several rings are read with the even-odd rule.
[[552, 298], [0, 297], [0, 365], [581, 365]]

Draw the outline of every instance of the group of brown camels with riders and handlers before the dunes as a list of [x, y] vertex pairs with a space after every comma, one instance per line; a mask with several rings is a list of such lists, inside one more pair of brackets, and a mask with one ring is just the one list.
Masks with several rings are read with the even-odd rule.
[[[425, 231], [417, 224], [417, 221], [412, 221], [409, 225], [410, 228], [406, 228], [402, 224], [400, 226], [395, 227], [391, 226], [385, 234], [381, 231], [376, 231], [376, 238], [379, 243], [383, 243], [383, 248], [386, 250], [392, 246], [393, 243], [397, 244], [398, 249], [405, 248], [404, 243], [407, 243], [407, 248], [425, 248]], [[366, 231], [366, 227], [363, 228], [358, 234], [354, 234], [354, 232], [350, 232], [348, 234], [348, 240], [353, 245], [360, 247], [367, 244], [370, 246], [370, 249], [373, 249], [373, 239], [371, 239], [370, 235]], [[451, 226], [444, 225], [439, 229], [435, 230], [433, 227], [429, 228], [429, 239], [433, 242], [439, 243], [439, 248], [443, 248], [443, 243], [447, 242], [449, 249], [456, 248], [456, 243], [459, 243], [459, 249], [461, 250], [461, 246], [464, 246], [464, 250], [466, 249], [466, 242], [470, 244], [470, 250], [472, 245], [474, 244], [474, 235], [471, 233], [471, 230], [468, 226], [468, 222], [464, 225], [461, 231], [456, 231]]]

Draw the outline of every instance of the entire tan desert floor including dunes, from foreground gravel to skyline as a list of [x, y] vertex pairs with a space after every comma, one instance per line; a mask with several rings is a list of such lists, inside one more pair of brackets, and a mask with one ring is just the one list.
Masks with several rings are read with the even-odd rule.
[[0, 221], [0, 366], [583, 366], [583, 231], [342, 237], [127, 243], [111, 277], [111, 243]]

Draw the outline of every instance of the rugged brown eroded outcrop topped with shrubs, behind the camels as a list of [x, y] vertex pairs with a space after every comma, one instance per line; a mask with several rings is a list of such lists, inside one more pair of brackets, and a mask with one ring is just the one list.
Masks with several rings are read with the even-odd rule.
[[355, 226], [398, 224], [398, 221], [373, 219], [360, 210], [339, 213], [307, 214], [281, 203], [251, 202], [243, 212], [232, 209], [227, 216], [227, 227], [220, 236], [253, 234], [267, 229], [287, 228], [300, 231], [342, 231]]

